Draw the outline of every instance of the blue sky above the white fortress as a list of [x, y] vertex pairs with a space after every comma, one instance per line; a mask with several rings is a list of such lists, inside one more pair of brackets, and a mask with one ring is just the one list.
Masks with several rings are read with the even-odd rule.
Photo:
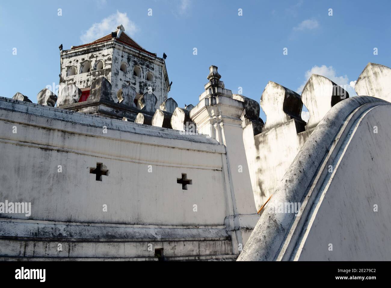
[[148, 51], [167, 54], [169, 96], [180, 107], [198, 103], [210, 65], [227, 89], [242, 87], [257, 101], [269, 80], [300, 92], [313, 72], [354, 95], [350, 84], [368, 62], [391, 66], [390, 10], [390, 1], [375, 0], [1, 2], [0, 96], [18, 91], [36, 103], [41, 89], [58, 85], [61, 43], [69, 49], [118, 24]]

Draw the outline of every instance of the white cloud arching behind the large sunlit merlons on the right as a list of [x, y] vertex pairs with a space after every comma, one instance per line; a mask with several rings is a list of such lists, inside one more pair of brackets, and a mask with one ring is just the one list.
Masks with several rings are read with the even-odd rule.
[[305, 84], [307, 83], [308, 79], [310, 79], [312, 74], [325, 76], [326, 78], [330, 79], [332, 82], [338, 84], [343, 89], [348, 91], [349, 96], [356, 96], [356, 92], [354, 91], [354, 85], [352, 86], [352, 83], [355, 84], [355, 81], [349, 82], [349, 78], [347, 75], [337, 76], [337, 73], [334, 70], [334, 68], [332, 66], [327, 67], [326, 65], [322, 65], [321, 67], [315, 65], [310, 70], [305, 72], [305, 81], [303, 82], [303, 84], [300, 85], [300, 87], [298, 87], [298, 89], [296, 90], [297, 93], [301, 94]]

